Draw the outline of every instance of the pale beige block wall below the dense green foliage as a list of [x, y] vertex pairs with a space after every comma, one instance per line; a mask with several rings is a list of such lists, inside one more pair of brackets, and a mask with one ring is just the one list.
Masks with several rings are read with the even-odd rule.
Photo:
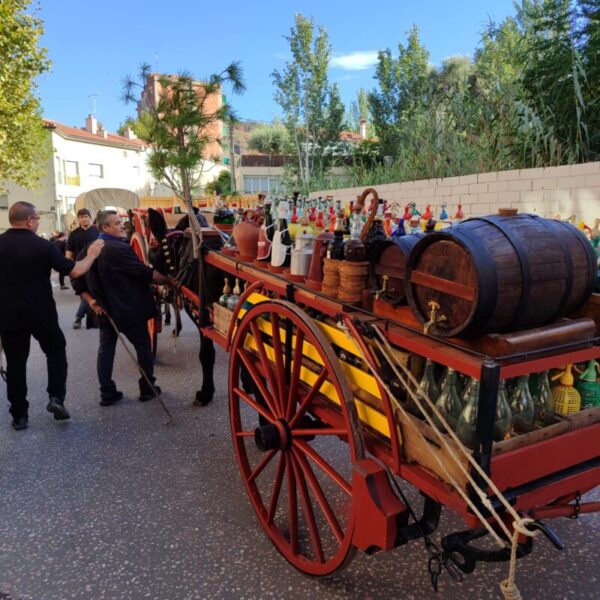
[[[540, 169], [521, 169], [424, 179], [373, 186], [380, 197], [404, 207], [416, 202], [422, 210], [431, 204], [436, 215], [445, 202], [450, 216], [462, 204], [465, 217], [498, 212], [498, 208], [518, 208], [519, 212], [542, 217], [575, 214], [578, 221], [593, 226], [600, 218], [600, 162]], [[322, 190], [311, 196], [331, 194], [349, 202], [364, 188]]]

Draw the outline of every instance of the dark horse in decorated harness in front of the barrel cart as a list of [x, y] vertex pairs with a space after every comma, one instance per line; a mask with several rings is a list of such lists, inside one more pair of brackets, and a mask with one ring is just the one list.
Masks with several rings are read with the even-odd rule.
[[207, 265], [202, 256], [208, 251], [200, 247], [200, 257], [194, 258], [191, 234], [186, 231], [188, 215], [184, 215], [174, 230], [169, 231], [164, 217], [148, 209], [148, 226], [158, 245], [150, 248], [149, 259], [154, 268], [177, 281], [177, 297], [200, 334], [198, 358], [202, 367], [202, 387], [196, 392], [194, 406], [206, 406], [215, 393], [213, 341], [202, 333], [209, 325], [208, 306], [219, 299], [223, 288], [223, 273]]

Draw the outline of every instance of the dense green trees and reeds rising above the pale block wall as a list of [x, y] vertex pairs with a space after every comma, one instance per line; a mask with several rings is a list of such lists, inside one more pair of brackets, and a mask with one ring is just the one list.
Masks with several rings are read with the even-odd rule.
[[439, 70], [416, 28], [380, 52], [369, 106], [380, 156], [356, 185], [600, 159], [600, 0], [522, 0], [474, 55]]

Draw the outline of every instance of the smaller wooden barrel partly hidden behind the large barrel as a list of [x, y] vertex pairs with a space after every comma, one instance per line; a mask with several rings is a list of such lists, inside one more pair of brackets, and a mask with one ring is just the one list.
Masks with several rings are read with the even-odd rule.
[[[381, 290], [385, 286], [386, 291], [380, 295], [381, 300], [396, 305], [405, 299], [406, 262], [411, 250], [423, 236], [423, 233], [407, 234], [390, 238], [381, 244], [373, 268], [377, 289]], [[386, 277], [387, 282], [384, 284]]]

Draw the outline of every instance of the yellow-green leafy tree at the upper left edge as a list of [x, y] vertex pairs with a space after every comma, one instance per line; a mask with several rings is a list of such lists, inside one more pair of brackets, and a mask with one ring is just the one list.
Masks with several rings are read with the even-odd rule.
[[0, 2], [0, 181], [33, 188], [50, 156], [35, 78], [50, 68], [30, 0]]

